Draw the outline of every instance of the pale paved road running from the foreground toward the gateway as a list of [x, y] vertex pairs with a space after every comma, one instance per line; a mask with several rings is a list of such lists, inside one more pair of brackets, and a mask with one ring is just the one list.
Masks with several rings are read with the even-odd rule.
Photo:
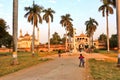
[[79, 54], [64, 55], [1, 77], [0, 80], [89, 80], [87, 67], [78, 67]]

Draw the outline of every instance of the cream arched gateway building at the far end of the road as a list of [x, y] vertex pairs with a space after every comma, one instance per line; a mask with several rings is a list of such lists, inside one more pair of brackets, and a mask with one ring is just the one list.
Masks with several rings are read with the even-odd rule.
[[[86, 34], [81, 33], [80, 35], [75, 36], [75, 43], [73, 43], [73, 42], [74, 41], [68, 42], [68, 47], [67, 48], [68, 49], [73, 49], [74, 48], [73, 45], [75, 44], [75, 49], [77, 51], [81, 51], [81, 50], [85, 50], [86, 48], [89, 47], [90, 39], [89, 39], [89, 37], [87, 37]], [[72, 46], [72, 48], [71, 48], [71, 46]], [[93, 41], [93, 46], [96, 49], [103, 49], [103, 48], [105, 48], [105, 43], [99, 42], [98, 40], [94, 40]]]

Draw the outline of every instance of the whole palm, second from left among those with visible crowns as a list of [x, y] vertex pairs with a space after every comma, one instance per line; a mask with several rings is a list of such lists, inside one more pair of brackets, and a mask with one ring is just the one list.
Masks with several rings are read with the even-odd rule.
[[48, 23], [48, 52], [50, 52], [50, 20], [51, 22], [53, 22], [53, 14], [55, 13], [55, 11], [51, 8], [48, 8], [43, 10], [43, 12], [45, 13], [43, 15], [43, 20], [45, 20], [46, 23]]

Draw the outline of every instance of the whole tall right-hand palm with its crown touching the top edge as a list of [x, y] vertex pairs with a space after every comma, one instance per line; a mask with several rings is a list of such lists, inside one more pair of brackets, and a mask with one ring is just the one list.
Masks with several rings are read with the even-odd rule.
[[103, 1], [103, 5], [99, 7], [99, 11], [102, 11], [103, 17], [106, 15], [106, 32], [107, 32], [107, 51], [109, 52], [109, 27], [108, 27], [108, 16], [113, 14], [113, 8], [110, 6], [108, 0]]

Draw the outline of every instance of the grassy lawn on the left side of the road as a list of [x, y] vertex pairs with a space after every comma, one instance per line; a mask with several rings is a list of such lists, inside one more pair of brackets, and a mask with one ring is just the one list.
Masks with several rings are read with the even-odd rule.
[[49, 58], [43, 59], [42, 57], [45, 57], [47, 55], [53, 55], [55, 53], [56, 52], [51, 53], [41, 52], [39, 54], [35, 54], [35, 56], [32, 57], [31, 53], [19, 52], [18, 53], [19, 65], [11, 65], [12, 62], [11, 53], [0, 53], [0, 76], [13, 73], [24, 68], [28, 68], [41, 62], [51, 60]]

